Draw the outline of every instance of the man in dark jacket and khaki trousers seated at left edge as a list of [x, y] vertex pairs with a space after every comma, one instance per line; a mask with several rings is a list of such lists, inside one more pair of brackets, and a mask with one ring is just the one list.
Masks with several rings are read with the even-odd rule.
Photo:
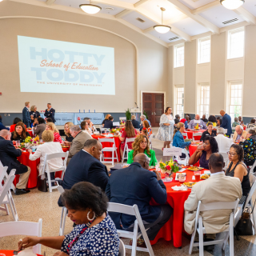
[[15, 194], [26, 194], [26, 183], [30, 177], [30, 167], [18, 162], [18, 157], [22, 155], [22, 150], [15, 149], [13, 142], [10, 142], [10, 131], [0, 130], [0, 161], [3, 166], [8, 166], [7, 174], [12, 169], [16, 169], [15, 174], [19, 175], [19, 182], [16, 184]]

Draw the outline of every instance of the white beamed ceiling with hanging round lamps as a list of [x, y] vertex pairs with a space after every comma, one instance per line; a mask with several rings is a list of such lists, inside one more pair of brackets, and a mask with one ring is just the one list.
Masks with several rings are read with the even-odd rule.
[[[52, 0], [38, 1], [52, 2]], [[89, 2], [89, 0], [56, 0], [52, 6], [54, 8], [67, 6], [73, 11], [74, 8], [79, 10], [80, 4]], [[223, 27], [240, 22], [256, 24], [256, 0], [246, 0], [238, 10], [227, 10], [219, 0], [92, 0], [91, 3], [102, 7], [102, 10], [95, 14], [96, 17], [105, 14], [104, 18], [116, 18], [117, 22], [122, 22], [166, 46], [166, 43], [174, 42], [170, 41], [170, 38], [178, 37], [175, 41], [182, 39], [190, 41], [193, 36], [200, 34], [205, 36], [207, 32], [218, 34]], [[111, 7], [113, 10], [107, 10], [106, 7]], [[163, 12], [163, 23], [172, 27], [171, 32], [167, 34], [159, 34], [153, 29], [154, 25], [162, 22], [160, 7], [166, 9]], [[139, 22], [137, 18], [145, 22]], [[222, 23], [234, 18], [238, 20], [226, 25]]]

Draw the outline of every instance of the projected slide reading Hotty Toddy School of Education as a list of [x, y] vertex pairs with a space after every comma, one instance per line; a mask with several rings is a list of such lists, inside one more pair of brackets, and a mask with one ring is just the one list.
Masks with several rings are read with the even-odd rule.
[[114, 48], [18, 36], [22, 92], [115, 94]]

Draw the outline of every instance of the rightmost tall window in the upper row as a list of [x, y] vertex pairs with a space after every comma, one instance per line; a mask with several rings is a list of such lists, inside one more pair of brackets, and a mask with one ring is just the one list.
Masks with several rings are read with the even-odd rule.
[[245, 30], [240, 27], [228, 34], [227, 58], [240, 58], [244, 54]]

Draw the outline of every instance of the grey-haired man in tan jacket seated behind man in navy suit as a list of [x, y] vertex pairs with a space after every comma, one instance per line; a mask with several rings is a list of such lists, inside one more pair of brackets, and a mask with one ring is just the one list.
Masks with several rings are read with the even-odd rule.
[[66, 164], [69, 164], [70, 159], [74, 157], [85, 145], [85, 142], [91, 138], [90, 134], [82, 132], [79, 126], [70, 127], [70, 134], [74, 138], [70, 145], [69, 158]]

